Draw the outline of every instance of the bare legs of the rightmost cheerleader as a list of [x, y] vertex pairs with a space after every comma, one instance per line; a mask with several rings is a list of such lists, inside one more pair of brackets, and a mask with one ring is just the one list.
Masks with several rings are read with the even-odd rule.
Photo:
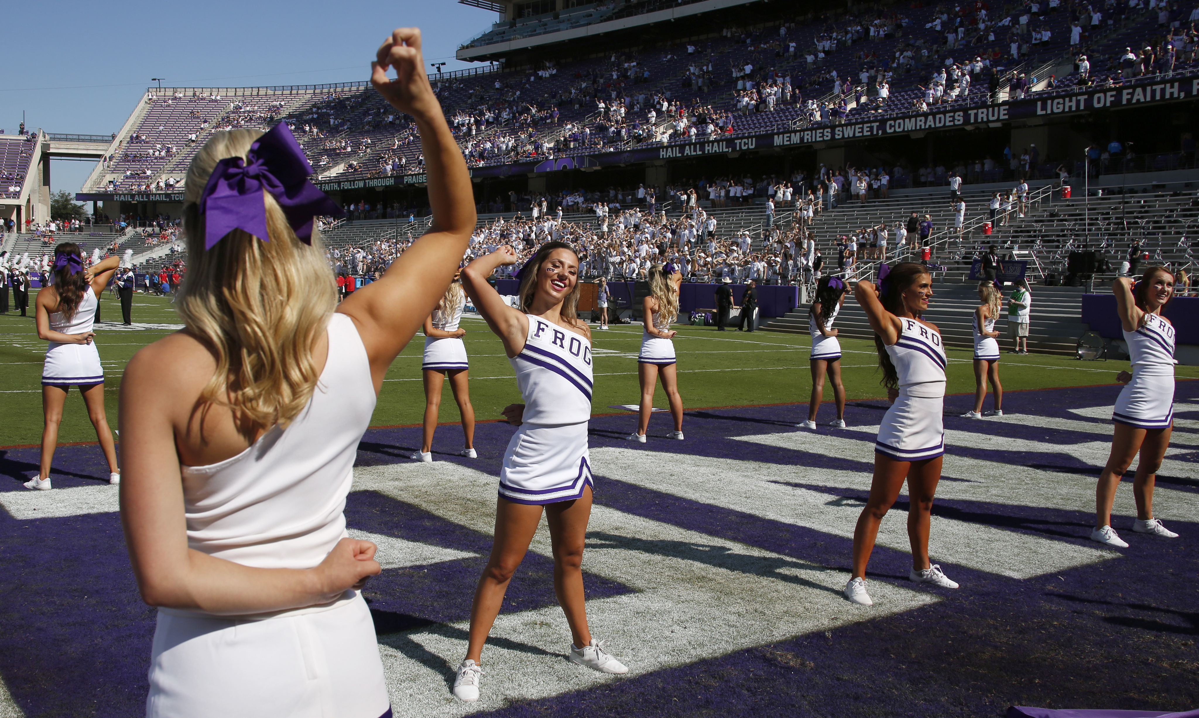
[[1116, 487], [1133, 459], [1140, 454], [1137, 473], [1132, 482], [1132, 495], [1137, 500], [1137, 518], [1147, 521], [1153, 518], [1153, 485], [1157, 483], [1157, 470], [1165, 458], [1170, 446], [1170, 434], [1174, 427], [1165, 429], [1141, 429], [1128, 424], [1115, 424], [1111, 438], [1111, 453], [1108, 465], [1099, 475], [1095, 487], [1095, 525], [1111, 525], [1111, 505], [1116, 499]]

